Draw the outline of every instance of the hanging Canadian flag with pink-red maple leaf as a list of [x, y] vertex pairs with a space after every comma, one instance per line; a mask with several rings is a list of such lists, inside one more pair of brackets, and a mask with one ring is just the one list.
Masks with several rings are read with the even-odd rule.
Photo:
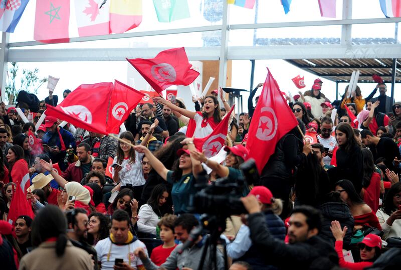
[[110, 2], [107, 1], [99, 9], [102, 3], [103, 0], [75, 0], [75, 16], [80, 37], [110, 34]]

